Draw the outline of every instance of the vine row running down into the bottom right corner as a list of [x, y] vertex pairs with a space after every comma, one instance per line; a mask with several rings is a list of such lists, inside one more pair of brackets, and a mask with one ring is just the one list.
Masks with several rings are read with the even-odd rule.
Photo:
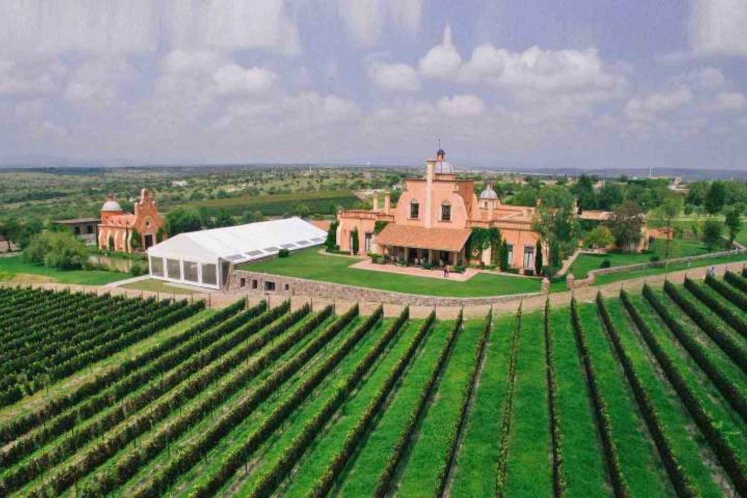
[[[648, 285], [644, 285], [643, 290], [644, 293], [651, 294], [651, 289]], [[719, 458], [722, 467], [724, 467], [731, 481], [734, 482], [737, 493], [742, 496], [747, 495], [747, 469], [739, 457], [737, 457], [731, 441], [722, 433], [719, 421], [713, 419], [711, 414], [706, 411], [705, 407], [695, 396], [695, 393], [690, 390], [678, 368], [672, 363], [672, 359], [663, 350], [656, 337], [654, 337], [654, 333], [648, 327], [648, 324], [645, 323], [638, 310], [630, 302], [626, 290], [620, 291], [620, 299], [627, 309], [628, 314], [633, 319], [633, 323], [636, 324], [643, 340], [648, 345], [648, 349], [651, 349], [651, 353], [653, 353], [659, 362], [666, 378], [669, 379], [669, 383], [680, 396], [692, 420], [695, 421], [695, 424], [701, 430], [709, 446], [716, 454], [716, 458]]]

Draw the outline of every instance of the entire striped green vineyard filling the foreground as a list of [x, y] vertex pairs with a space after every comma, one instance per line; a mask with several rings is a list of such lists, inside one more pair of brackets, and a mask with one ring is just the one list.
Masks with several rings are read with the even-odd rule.
[[470, 320], [0, 288], [0, 495], [744, 496], [746, 304], [735, 273]]

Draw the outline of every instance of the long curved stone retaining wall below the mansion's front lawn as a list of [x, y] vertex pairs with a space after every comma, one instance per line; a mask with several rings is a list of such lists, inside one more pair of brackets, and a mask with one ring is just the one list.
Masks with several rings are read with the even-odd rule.
[[332, 284], [323, 281], [307, 280], [306, 278], [270, 275], [268, 273], [248, 270], [233, 271], [229, 278], [227, 290], [229, 292], [246, 292], [249, 295], [261, 296], [308, 296], [320, 299], [344, 299], [360, 302], [382, 302], [397, 305], [438, 306], [446, 308], [489, 306], [506, 301], [518, 302], [524, 297], [539, 295], [539, 293], [525, 293], [486, 297], [421, 296], [418, 294], [355, 287], [353, 285]]

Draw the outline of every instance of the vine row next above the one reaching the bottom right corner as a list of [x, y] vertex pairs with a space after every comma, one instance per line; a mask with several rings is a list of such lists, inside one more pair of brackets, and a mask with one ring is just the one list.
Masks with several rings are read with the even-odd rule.
[[651, 307], [656, 310], [657, 314], [666, 323], [672, 333], [675, 334], [677, 340], [680, 341], [682, 346], [689, 352], [689, 355], [701, 367], [701, 370], [708, 376], [708, 379], [716, 385], [718, 390], [724, 395], [724, 398], [729, 402], [732, 408], [740, 414], [743, 420], [747, 421], [747, 399], [742, 395], [740, 390], [731, 382], [731, 379], [727, 379], [721, 371], [710, 361], [708, 358], [707, 349], [695, 340], [682, 326], [682, 323], [677, 320], [669, 311], [664, 307], [656, 294], [651, 290], [651, 287], [645, 285], [643, 287], [643, 296], [651, 303]]

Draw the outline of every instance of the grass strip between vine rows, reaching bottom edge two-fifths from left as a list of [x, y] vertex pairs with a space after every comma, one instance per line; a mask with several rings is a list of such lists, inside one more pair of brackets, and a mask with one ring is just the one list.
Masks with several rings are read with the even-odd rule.
[[[394, 338], [391, 350], [375, 367], [365, 384], [341, 409], [338, 419], [333, 420], [329, 429], [320, 435], [319, 440], [303, 456], [297, 472], [290, 484], [282, 491], [285, 497], [305, 497], [317, 478], [326, 470], [330, 462], [342, 451], [348, 432], [356, 427], [365, 415], [365, 410], [396, 367], [400, 358], [409, 348], [412, 338], [420, 328], [422, 320], [413, 320], [403, 326], [403, 332]], [[396, 388], [396, 386], [395, 386]]]

